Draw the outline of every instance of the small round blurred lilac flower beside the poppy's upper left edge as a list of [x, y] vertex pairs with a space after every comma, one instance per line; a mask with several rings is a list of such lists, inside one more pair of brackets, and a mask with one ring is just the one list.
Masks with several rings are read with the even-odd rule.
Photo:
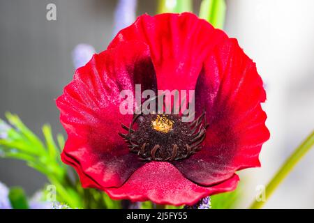
[[72, 52], [73, 65], [75, 69], [87, 64], [95, 52], [94, 47], [91, 45], [85, 43], [77, 45]]

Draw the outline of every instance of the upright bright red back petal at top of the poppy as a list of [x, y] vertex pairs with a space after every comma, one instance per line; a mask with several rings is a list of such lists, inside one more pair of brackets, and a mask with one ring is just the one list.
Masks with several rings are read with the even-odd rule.
[[151, 51], [160, 90], [194, 90], [205, 57], [225, 40], [223, 31], [191, 13], [140, 16], [121, 30], [108, 49], [139, 40]]

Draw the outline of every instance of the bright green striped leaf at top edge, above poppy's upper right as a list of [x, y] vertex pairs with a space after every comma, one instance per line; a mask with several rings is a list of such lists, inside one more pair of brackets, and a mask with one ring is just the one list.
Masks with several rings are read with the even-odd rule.
[[200, 18], [207, 20], [217, 29], [223, 29], [225, 12], [225, 0], [203, 0], [200, 7]]

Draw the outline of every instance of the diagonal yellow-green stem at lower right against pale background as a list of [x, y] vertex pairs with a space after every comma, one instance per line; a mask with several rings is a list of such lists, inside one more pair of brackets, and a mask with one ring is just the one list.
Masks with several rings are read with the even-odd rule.
[[[287, 158], [281, 169], [277, 172], [277, 174], [272, 178], [272, 180], [267, 185], [266, 192], [266, 200], [271, 197], [271, 194], [274, 193], [278, 185], [283, 182], [285, 177], [292, 171], [295, 165], [301, 160], [304, 155], [313, 147], [314, 145], [314, 131], [304, 140], [304, 142]], [[251, 209], [262, 208], [264, 206], [262, 201], [254, 201], [251, 205]]]

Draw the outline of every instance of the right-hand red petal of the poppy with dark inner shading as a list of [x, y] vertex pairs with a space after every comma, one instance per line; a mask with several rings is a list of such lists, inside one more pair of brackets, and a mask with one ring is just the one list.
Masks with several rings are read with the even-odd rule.
[[184, 176], [208, 186], [239, 169], [260, 167], [258, 155], [269, 139], [260, 106], [266, 95], [255, 63], [237, 40], [226, 40], [209, 55], [195, 97], [197, 113], [206, 110], [209, 128], [200, 152], [173, 163]]

